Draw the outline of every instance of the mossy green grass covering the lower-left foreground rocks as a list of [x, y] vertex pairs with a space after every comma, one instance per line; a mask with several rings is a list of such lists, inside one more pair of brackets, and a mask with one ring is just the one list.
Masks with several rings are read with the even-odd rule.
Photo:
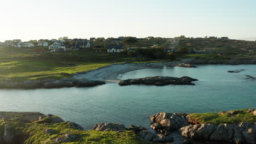
[[[2, 139], [4, 131], [4, 121], [0, 121], [0, 141]], [[62, 137], [65, 134], [77, 135], [77, 139], [72, 142], [65, 142], [66, 144], [81, 144], [81, 143], [146, 143], [135, 134], [134, 131], [125, 130], [118, 133], [117, 131], [96, 131], [96, 130], [76, 130], [69, 127], [69, 122], [57, 123], [52, 125], [39, 124], [37, 122], [23, 123], [17, 119], [5, 121], [15, 131], [19, 131], [21, 135], [24, 135], [26, 140], [25, 144], [44, 144], [56, 143], [57, 137]], [[54, 133], [45, 134], [43, 129], [53, 129]]]

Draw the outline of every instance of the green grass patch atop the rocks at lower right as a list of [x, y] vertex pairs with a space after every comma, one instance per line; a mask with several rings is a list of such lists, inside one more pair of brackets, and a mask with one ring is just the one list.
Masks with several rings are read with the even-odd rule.
[[245, 110], [235, 110], [237, 114], [231, 115], [228, 112], [219, 113], [193, 113], [190, 115], [190, 120], [193, 123], [213, 123], [213, 124], [236, 124], [240, 122], [256, 122], [256, 116]]

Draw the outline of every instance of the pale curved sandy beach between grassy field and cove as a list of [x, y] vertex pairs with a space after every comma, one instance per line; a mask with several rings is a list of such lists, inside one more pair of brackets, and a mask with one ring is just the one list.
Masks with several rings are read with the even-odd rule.
[[139, 69], [158, 69], [164, 66], [173, 67], [180, 62], [166, 62], [166, 63], [125, 63], [125, 64], [112, 64], [106, 67], [98, 68], [84, 74], [74, 75], [74, 79], [88, 79], [106, 82], [118, 82], [117, 76], [119, 74], [127, 73]]

